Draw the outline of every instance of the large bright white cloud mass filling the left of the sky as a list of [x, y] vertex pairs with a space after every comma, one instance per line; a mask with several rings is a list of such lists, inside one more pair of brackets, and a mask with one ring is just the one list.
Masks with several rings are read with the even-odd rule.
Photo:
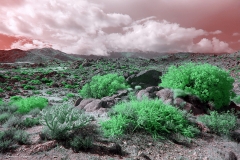
[[[12, 47], [23, 45], [21, 48], [26, 49], [51, 44], [67, 53], [103, 54], [104, 47], [94, 40], [101, 30], [132, 22], [129, 15], [105, 13], [101, 5], [87, 0], [42, 0], [41, 5], [25, 0], [23, 5], [7, 9], [6, 6], [0, 8], [0, 33], [32, 39], [32, 45], [24, 40], [12, 44]], [[93, 49], [95, 47], [100, 49]]]

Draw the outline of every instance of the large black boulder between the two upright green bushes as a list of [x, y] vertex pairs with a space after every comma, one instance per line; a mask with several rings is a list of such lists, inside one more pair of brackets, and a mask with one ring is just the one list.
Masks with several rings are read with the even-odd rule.
[[162, 76], [162, 73], [157, 70], [145, 70], [131, 75], [126, 81], [132, 86], [140, 85], [145, 88], [148, 86], [157, 86], [161, 82], [159, 79], [160, 76]]

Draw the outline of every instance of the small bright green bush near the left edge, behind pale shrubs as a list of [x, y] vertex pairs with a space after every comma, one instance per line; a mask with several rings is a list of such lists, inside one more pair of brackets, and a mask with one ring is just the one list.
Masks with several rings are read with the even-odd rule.
[[12, 104], [18, 106], [18, 112], [20, 113], [28, 113], [34, 108], [43, 109], [48, 105], [48, 100], [43, 97], [28, 97], [28, 98], [19, 98], [15, 97], [16, 99], [10, 99]]

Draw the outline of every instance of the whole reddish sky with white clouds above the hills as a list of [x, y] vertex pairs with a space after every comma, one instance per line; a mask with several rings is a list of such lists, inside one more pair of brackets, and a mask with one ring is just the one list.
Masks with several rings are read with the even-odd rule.
[[239, 0], [1, 0], [0, 49], [233, 53]]

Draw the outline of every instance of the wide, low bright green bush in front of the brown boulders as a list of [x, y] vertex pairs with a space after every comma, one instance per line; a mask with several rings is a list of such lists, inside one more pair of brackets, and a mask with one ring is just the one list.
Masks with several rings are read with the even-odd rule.
[[111, 119], [100, 122], [105, 136], [120, 136], [127, 130], [145, 130], [153, 137], [163, 138], [170, 133], [180, 133], [194, 137], [199, 130], [186, 119], [185, 113], [177, 108], [164, 104], [161, 100], [131, 100], [113, 107]]

